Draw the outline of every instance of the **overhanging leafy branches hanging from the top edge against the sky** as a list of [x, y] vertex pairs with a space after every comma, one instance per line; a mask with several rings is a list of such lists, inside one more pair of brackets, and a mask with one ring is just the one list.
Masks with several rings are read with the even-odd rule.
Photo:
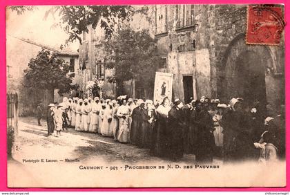
[[79, 40], [82, 32], [88, 32], [88, 26], [93, 29], [97, 24], [101, 25], [106, 32], [106, 38], [110, 39], [116, 26], [122, 21], [129, 21], [133, 8], [131, 6], [53, 6], [46, 12], [45, 18], [48, 15], [59, 15], [61, 22], [60, 26], [69, 34], [68, 42]]

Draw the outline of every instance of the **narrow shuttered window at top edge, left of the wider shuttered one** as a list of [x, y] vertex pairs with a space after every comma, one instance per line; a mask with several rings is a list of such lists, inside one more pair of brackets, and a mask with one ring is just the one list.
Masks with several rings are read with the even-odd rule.
[[167, 31], [167, 6], [156, 5], [155, 6], [155, 31], [156, 34], [160, 34]]

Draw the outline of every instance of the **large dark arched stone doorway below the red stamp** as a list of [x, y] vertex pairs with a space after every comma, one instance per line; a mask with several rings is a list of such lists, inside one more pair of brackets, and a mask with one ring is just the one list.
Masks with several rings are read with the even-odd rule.
[[260, 111], [267, 111], [268, 67], [273, 67], [273, 59], [265, 46], [249, 46], [244, 35], [239, 35], [229, 44], [224, 54], [220, 72], [218, 94], [224, 102], [232, 97], [243, 97], [249, 102], [260, 102]]

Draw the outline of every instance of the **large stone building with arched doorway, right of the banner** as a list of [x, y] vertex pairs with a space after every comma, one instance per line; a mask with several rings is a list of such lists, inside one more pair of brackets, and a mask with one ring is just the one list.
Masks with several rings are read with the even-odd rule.
[[246, 5], [156, 5], [160, 71], [173, 73], [173, 98], [206, 95], [284, 104], [284, 35], [280, 46], [245, 44]]

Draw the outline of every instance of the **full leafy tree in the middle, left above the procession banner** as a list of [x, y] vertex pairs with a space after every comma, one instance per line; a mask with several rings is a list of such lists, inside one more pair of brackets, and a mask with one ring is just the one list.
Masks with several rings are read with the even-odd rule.
[[115, 68], [109, 79], [118, 84], [135, 79], [146, 89], [153, 89], [155, 71], [161, 58], [155, 52], [155, 40], [147, 30], [119, 30], [104, 44], [106, 68]]

